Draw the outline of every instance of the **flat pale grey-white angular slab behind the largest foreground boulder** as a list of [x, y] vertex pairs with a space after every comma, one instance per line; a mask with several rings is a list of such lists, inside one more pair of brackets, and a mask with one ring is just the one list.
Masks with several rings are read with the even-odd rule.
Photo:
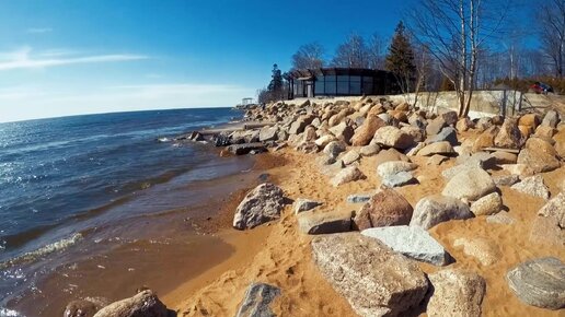
[[419, 226], [383, 226], [364, 230], [362, 235], [377, 238], [388, 247], [418, 261], [446, 266], [450, 256], [446, 249]]

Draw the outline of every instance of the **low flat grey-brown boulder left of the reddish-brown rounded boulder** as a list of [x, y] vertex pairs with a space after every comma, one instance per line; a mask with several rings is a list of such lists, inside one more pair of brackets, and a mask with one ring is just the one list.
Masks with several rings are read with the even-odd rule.
[[351, 231], [350, 211], [303, 212], [298, 227], [305, 234], [331, 234]]

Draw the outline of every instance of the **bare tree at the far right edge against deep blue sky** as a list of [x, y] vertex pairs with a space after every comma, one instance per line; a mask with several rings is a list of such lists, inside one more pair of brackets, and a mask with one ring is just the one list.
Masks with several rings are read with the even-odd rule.
[[565, 1], [544, 0], [540, 7], [537, 21], [543, 50], [552, 60], [555, 75], [564, 75], [565, 60]]

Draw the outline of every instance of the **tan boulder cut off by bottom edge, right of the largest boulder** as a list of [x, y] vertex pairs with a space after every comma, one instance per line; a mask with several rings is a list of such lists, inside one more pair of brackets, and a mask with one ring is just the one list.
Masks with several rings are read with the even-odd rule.
[[482, 316], [481, 304], [486, 293], [486, 282], [481, 275], [447, 269], [431, 273], [428, 278], [434, 286], [426, 310], [428, 316]]

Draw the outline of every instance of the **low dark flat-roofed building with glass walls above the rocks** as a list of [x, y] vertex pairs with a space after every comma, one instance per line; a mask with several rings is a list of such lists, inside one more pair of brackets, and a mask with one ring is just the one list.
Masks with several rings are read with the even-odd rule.
[[391, 72], [372, 69], [322, 68], [295, 70], [289, 77], [290, 97], [360, 96], [399, 93]]

